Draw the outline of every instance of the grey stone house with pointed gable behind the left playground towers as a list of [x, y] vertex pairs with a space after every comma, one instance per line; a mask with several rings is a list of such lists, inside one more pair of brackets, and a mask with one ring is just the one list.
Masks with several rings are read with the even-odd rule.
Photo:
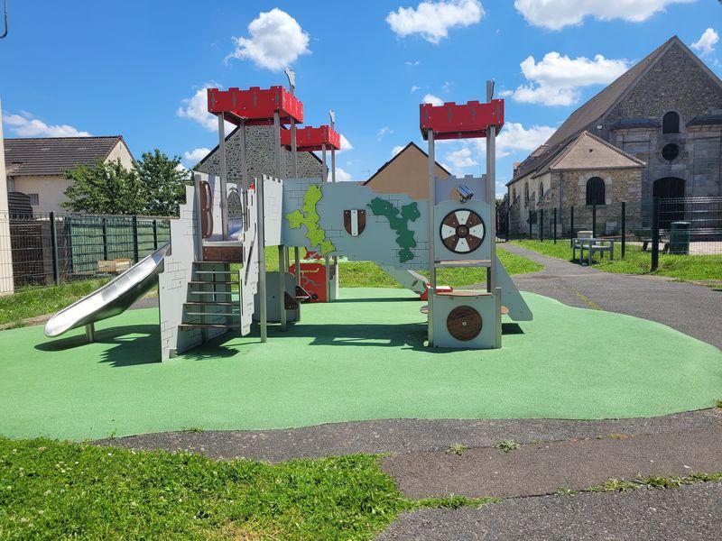
[[[226, 136], [226, 167], [228, 182], [241, 181], [241, 143], [240, 128], [236, 127]], [[275, 156], [273, 148], [273, 126], [245, 126], [245, 160], [248, 176], [251, 179], [261, 175], [276, 176]], [[292, 152], [282, 148], [283, 177], [292, 176]], [[330, 167], [330, 152], [327, 152], [327, 166]], [[191, 168], [211, 175], [220, 174], [220, 157], [218, 145], [208, 155]], [[323, 165], [313, 152], [299, 152], [299, 178], [320, 178]]]

